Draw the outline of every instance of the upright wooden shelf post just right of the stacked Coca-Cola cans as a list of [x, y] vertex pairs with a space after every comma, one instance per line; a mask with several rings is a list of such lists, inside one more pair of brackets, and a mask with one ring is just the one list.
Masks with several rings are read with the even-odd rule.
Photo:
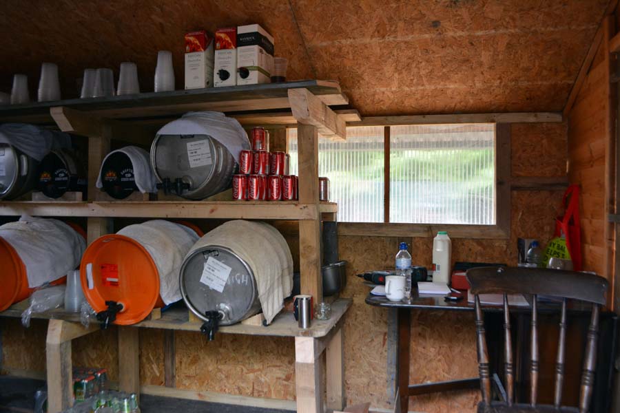
[[[318, 194], [318, 130], [300, 124], [297, 131], [299, 153], [299, 202], [315, 204], [319, 211]], [[314, 297], [315, 304], [323, 299], [321, 277], [320, 215], [299, 222], [301, 293]]]

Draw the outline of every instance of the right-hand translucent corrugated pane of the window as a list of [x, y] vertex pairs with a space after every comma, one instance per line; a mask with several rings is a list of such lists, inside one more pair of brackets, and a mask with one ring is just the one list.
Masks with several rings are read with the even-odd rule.
[[390, 222], [495, 224], [495, 125], [391, 127]]

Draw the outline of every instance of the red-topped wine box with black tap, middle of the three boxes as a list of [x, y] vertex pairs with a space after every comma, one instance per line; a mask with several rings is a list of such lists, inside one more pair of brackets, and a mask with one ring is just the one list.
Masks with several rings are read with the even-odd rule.
[[216, 32], [215, 67], [213, 84], [215, 87], [237, 84], [237, 28], [225, 28]]

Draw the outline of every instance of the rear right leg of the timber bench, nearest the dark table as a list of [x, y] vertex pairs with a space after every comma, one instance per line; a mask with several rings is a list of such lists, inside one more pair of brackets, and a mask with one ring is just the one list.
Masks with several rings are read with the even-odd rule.
[[344, 335], [342, 326], [331, 337], [325, 350], [327, 370], [327, 408], [342, 410], [347, 402], [344, 396]]

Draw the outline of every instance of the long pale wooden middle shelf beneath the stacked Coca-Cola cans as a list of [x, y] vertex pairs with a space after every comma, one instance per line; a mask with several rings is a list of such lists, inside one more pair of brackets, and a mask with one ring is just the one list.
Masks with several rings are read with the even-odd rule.
[[94, 218], [211, 218], [247, 220], [316, 220], [319, 213], [336, 213], [338, 204], [295, 201], [6, 201], [0, 215]]

